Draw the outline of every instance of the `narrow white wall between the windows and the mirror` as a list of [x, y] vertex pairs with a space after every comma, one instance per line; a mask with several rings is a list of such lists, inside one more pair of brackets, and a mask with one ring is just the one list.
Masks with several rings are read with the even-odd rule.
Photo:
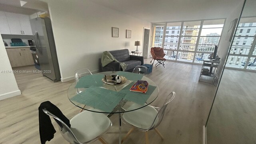
[[224, 25], [222, 37], [220, 39], [220, 44], [219, 44], [218, 51], [217, 51], [218, 56], [221, 58], [220, 68], [219, 68], [219, 72], [218, 72], [219, 76], [224, 67], [224, 63], [226, 62], [226, 56], [228, 55], [228, 50], [229, 50], [230, 43], [231, 43], [231, 42], [228, 42], [225, 40], [226, 35], [228, 33], [228, 28], [229, 28], [230, 22], [232, 22], [232, 20], [239, 18], [240, 13], [242, 11], [243, 4], [244, 4], [243, 1], [238, 3], [236, 8], [234, 8], [232, 10], [232, 12], [230, 12], [230, 16], [228, 16], [226, 19], [226, 24]]

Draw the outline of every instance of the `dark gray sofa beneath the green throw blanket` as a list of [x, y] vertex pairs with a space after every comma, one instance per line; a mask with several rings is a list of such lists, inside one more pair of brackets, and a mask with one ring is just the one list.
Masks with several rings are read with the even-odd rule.
[[[144, 59], [142, 56], [133, 56], [129, 54], [128, 49], [123, 50], [113, 50], [109, 51], [119, 62], [124, 62], [127, 64], [126, 72], [132, 72], [132, 70], [136, 66], [140, 66], [144, 64]], [[107, 71], [122, 71], [121, 66], [118, 62], [111, 62], [108, 65], [102, 67], [101, 58], [99, 59], [99, 70], [100, 72], [107, 72]]]

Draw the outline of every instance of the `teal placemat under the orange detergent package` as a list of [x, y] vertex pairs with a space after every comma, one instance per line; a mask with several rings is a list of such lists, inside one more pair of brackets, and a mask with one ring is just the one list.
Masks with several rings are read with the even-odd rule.
[[148, 91], [146, 93], [132, 92], [130, 91], [130, 88], [132, 87], [132, 85], [134, 85], [134, 83], [135, 82], [130, 83], [128, 86], [120, 90], [120, 92], [126, 94], [124, 96], [124, 99], [143, 105], [151, 96], [151, 94], [154, 92], [154, 90], [156, 89], [156, 86], [148, 85]]

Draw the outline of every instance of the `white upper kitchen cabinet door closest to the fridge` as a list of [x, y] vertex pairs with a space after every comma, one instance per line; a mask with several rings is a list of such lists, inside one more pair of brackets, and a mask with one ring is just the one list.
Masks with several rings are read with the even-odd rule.
[[20, 20], [20, 27], [24, 35], [33, 35], [28, 15], [18, 14]]

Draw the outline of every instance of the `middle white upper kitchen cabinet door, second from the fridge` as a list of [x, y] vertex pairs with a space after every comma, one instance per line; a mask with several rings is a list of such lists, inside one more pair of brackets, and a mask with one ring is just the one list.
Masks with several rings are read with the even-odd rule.
[[9, 24], [9, 28], [11, 31], [11, 34], [23, 34], [20, 26], [20, 20], [18, 14], [14, 14], [11, 12], [5, 12], [7, 22]]

